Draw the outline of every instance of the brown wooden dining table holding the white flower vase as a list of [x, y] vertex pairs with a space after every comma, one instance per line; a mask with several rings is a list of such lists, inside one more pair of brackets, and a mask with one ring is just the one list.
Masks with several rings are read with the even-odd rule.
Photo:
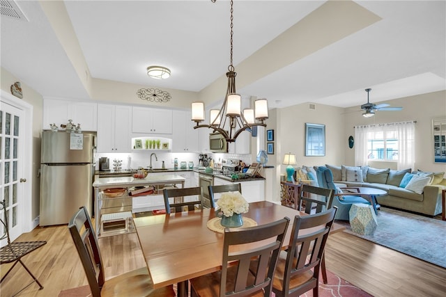
[[[286, 248], [296, 215], [307, 216], [290, 207], [261, 201], [249, 203], [249, 211], [243, 217], [254, 220], [256, 225], [290, 218], [283, 246]], [[213, 218], [215, 209], [134, 218], [155, 289], [178, 284], [177, 296], [187, 296], [187, 280], [221, 270], [224, 234], [208, 227], [208, 221]], [[334, 223], [330, 233], [344, 229]]]

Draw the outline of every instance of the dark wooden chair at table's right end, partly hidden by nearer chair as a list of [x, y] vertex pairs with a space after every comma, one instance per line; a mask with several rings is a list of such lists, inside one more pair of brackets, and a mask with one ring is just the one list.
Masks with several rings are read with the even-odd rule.
[[[314, 197], [314, 195], [316, 195], [316, 197]], [[318, 214], [321, 211], [332, 208], [333, 198], [334, 190], [330, 188], [320, 188], [318, 186], [304, 184], [302, 186], [302, 191], [300, 192], [299, 210], [302, 211], [302, 202], [305, 202], [306, 214]], [[316, 204], [316, 207], [313, 207], [314, 204]], [[327, 269], [325, 268], [325, 253], [321, 259], [321, 273], [322, 281], [326, 284], [328, 280]]]

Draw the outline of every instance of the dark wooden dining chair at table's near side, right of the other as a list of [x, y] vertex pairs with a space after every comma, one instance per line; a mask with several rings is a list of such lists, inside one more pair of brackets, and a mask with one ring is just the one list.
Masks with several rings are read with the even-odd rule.
[[[319, 268], [337, 207], [309, 216], [295, 216], [286, 257], [279, 257], [272, 291], [277, 297], [300, 296], [313, 289], [318, 296]], [[318, 227], [317, 231], [302, 230]]]

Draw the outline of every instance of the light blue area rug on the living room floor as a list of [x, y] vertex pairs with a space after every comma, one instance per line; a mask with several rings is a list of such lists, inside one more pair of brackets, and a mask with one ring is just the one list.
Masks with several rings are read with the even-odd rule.
[[372, 235], [353, 232], [348, 222], [337, 223], [345, 225], [348, 234], [446, 268], [446, 220], [387, 207], [381, 207], [376, 218], [378, 227]]

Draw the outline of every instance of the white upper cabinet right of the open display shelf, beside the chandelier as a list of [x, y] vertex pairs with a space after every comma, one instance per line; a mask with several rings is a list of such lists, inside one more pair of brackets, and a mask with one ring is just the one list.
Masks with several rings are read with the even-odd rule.
[[173, 111], [172, 152], [199, 152], [199, 131], [190, 111]]

